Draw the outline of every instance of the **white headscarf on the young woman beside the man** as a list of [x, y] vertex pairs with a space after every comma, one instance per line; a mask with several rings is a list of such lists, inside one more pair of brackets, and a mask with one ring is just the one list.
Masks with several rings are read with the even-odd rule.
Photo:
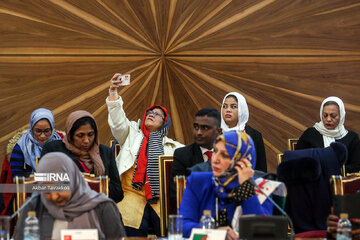
[[[238, 123], [235, 127], [232, 128], [229, 128], [229, 126], [225, 123], [224, 118], [222, 116], [224, 102], [226, 98], [229, 97], [229, 95], [235, 96], [238, 102]], [[223, 132], [228, 132], [231, 130], [244, 131], [245, 125], [248, 120], [249, 120], [249, 108], [247, 106], [246, 99], [244, 98], [244, 96], [238, 92], [230, 92], [226, 94], [223, 99], [223, 103], [221, 105], [221, 128]]]

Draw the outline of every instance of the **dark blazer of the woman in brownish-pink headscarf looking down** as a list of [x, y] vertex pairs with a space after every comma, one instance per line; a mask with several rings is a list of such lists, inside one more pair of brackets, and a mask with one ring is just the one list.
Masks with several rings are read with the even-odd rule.
[[[120, 202], [124, 198], [124, 193], [121, 187], [120, 176], [116, 166], [115, 157], [113, 151], [105, 145], [100, 144], [100, 157], [104, 163], [105, 175], [109, 176], [109, 197], [115, 202]], [[81, 172], [85, 172], [82, 165], [79, 163], [79, 160], [76, 158], [75, 154], [70, 152], [62, 140], [55, 140], [48, 142], [44, 145], [43, 150], [41, 151], [41, 157], [48, 152], [63, 152], [68, 155], [78, 166]], [[41, 160], [41, 159], [40, 159]]]

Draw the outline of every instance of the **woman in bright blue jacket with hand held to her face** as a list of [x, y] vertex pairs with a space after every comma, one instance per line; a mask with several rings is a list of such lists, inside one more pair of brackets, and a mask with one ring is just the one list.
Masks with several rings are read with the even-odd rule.
[[227, 229], [229, 239], [237, 239], [233, 229], [237, 229], [241, 214], [272, 214], [271, 202], [261, 205], [249, 180], [256, 163], [251, 137], [240, 131], [226, 132], [218, 137], [214, 149], [212, 172], [193, 172], [187, 179], [179, 209], [184, 217], [184, 237], [200, 227], [203, 210], [211, 210], [217, 228]]

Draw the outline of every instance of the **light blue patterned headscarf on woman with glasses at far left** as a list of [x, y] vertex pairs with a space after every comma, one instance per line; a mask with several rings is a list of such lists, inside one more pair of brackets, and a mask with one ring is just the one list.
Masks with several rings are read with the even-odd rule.
[[48, 139], [48, 142], [61, 139], [61, 136], [54, 131], [55, 120], [54, 115], [50, 110], [39, 108], [32, 112], [30, 116], [30, 129], [20, 137], [17, 144], [24, 154], [25, 163], [34, 170], [36, 170], [36, 158], [40, 157], [42, 148], [45, 143], [39, 143], [35, 139], [32, 130], [35, 124], [42, 119], [46, 119], [50, 123], [51, 135]]

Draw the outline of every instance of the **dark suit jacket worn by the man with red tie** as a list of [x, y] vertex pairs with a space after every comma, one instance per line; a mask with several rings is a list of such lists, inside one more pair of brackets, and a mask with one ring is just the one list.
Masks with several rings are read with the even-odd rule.
[[[176, 149], [174, 152], [174, 162], [171, 167], [171, 179], [174, 179], [176, 175], [188, 176], [190, 171], [187, 168], [203, 162], [204, 159], [200, 146], [196, 143]], [[176, 186], [173, 181], [170, 181], [170, 199], [171, 206], [174, 206], [172, 213], [176, 213]]]

